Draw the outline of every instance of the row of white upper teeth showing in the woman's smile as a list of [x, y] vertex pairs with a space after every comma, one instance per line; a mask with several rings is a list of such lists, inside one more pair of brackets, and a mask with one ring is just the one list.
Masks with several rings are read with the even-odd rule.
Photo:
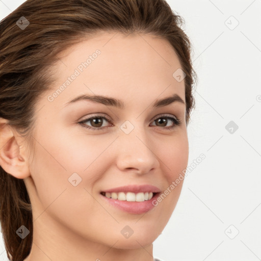
[[[103, 193], [104, 195], [104, 193]], [[107, 198], [113, 198], [113, 199], [118, 199], [118, 200], [122, 200], [122, 201], [136, 201], [136, 202], [142, 202], [145, 200], [150, 200], [153, 197], [153, 193], [152, 192], [139, 192], [137, 194], [133, 193], [133, 192], [127, 192], [126, 194], [124, 192], [106, 192], [105, 196]]]

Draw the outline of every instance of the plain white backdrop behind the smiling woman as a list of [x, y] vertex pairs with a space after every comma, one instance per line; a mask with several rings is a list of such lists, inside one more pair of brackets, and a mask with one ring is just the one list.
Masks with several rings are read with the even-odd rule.
[[[23, 2], [0, 0], [0, 19]], [[198, 84], [188, 126], [193, 169], [154, 257], [260, 260], [261, 0], [167, 2], [185, 19]]]

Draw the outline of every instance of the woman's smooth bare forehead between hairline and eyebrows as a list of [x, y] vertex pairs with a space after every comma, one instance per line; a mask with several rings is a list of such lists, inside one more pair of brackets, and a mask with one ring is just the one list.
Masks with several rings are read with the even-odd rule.
[[[59, 59], [53, 91], [65, 88], [56, 102], [66, 103], [73, 95], [85, 93], [121, 99], [138, 95], [155, 99], [173, 93], [185, 97], [184, 81], [172, 76], [181, 68], [178, 57], [159, 36], [100, 32], [70, 46]], [[72, 75], [76, 76], [68, 80]]]

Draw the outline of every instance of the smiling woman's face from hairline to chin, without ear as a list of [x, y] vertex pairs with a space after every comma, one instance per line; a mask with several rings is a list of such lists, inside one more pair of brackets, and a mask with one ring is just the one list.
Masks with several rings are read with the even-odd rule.
[[116, 248], [149, 245], [174, 210], [183, 182], [175, 180], [188, 163], [177, 55], [159, 37], [107, 32], [59, 58], [56, 83], [37, 103], [36, 149], [24, 179], [35, 232], [41, 226], [52, 237]]

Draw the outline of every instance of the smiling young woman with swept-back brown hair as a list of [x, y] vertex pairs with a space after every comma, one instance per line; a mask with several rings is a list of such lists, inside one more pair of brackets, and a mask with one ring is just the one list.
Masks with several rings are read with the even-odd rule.
[[10, 260], [158, 260], [194, 107], [181, 24], [163, 0], [28, 0], [1, 21]]

